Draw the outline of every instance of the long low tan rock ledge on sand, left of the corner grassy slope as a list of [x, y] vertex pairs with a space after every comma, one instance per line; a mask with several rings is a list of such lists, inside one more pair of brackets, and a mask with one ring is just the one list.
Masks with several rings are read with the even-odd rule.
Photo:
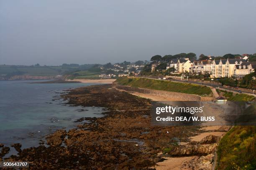
[[208, 155], [214, 153], [217, 144], [213, 145], [179, 145], [169, 152], [174, 156]]

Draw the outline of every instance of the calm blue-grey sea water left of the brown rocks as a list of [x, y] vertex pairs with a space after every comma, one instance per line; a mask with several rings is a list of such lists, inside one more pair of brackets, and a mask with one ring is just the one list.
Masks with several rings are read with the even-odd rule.
[[54, 130], [74, 128], [80, 117], [103, 116], [102, 107], [73, 107], [59, 97], [63, 90], [96, 83], [27, 83], [35, 81], [0, 81], [0, 143], [5, 146], [38, 146]]

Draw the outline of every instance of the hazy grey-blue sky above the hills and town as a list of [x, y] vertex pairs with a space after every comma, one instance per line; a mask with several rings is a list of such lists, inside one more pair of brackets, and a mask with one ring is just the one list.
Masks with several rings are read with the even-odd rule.
[[0, 64], [256, 53], [255, 0], [0, 0]]

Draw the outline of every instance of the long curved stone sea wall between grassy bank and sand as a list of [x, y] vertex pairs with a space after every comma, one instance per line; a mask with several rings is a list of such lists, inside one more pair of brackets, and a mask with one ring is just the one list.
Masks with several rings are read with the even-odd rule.
[[125, 90], [128, 92], [140, 92], [144, 94], [156, 95], [159, 97], [169, 97], [177, 101], [211, 101], [212, 97], [200, 97], [199, 95], [186, 94], [181, 92], [167, 92], [162, 90], [151, 90], [138, 87], [118, 85], [116, 82], [113, 83], [116, 88]]

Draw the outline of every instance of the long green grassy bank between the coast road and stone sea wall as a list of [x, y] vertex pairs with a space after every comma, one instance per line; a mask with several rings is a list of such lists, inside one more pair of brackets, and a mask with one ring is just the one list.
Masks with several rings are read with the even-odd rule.
[[141, 87], [154, 90], [165, 90], [172, 92], [183, 92], [189, 94], [195, 94], [200, 96], [210, 96], [211, 90], [209, 87], [202, 87], [199, 85], [184, 84], [179, 82], [170, 82], [163, 80], [153, 80], [147, 78], [127, 78], [119, 77], [117, 82], [122, 85], [128, 85], [132, 87]]

